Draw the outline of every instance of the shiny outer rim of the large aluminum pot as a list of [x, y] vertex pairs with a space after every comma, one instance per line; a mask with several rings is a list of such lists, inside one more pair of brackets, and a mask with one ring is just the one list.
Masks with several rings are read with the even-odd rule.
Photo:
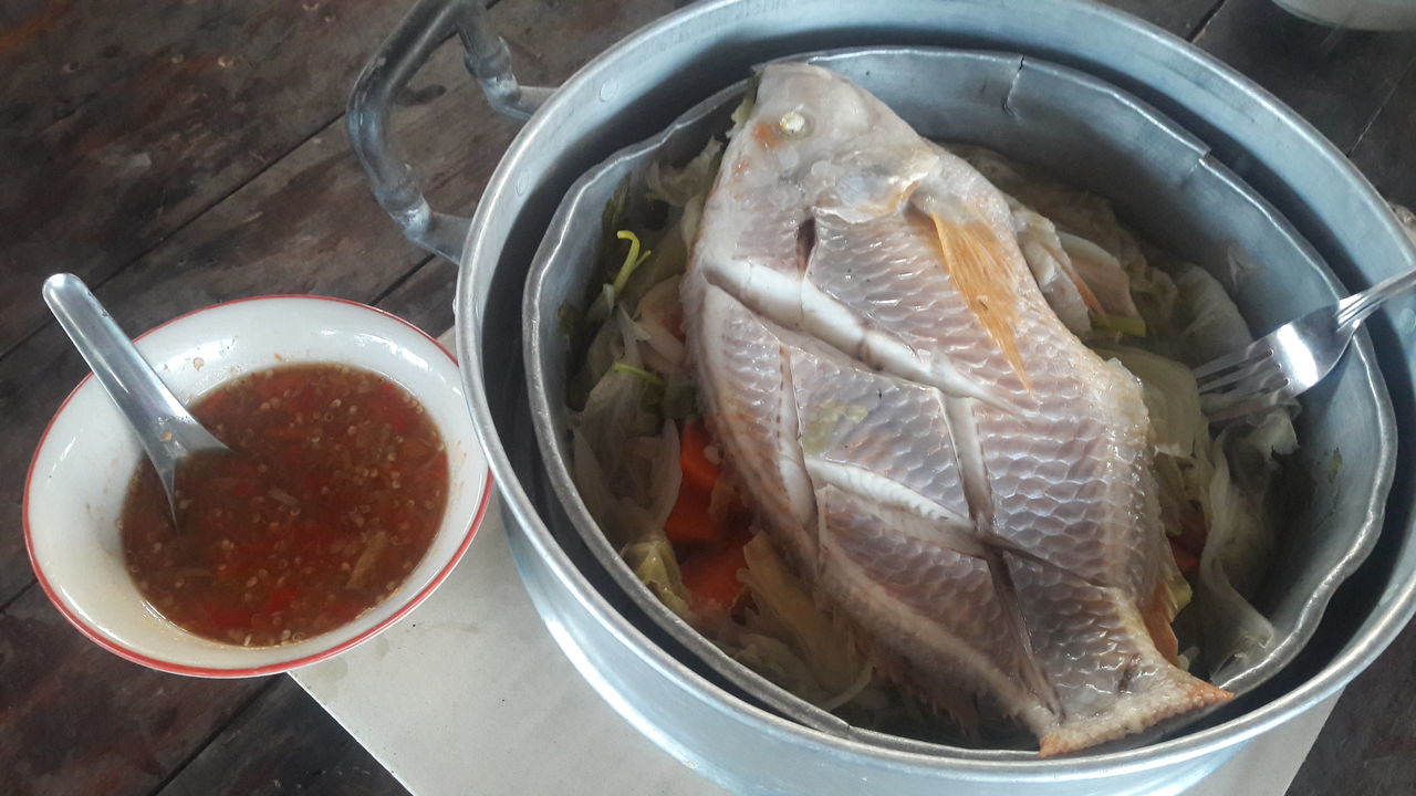
[[[956, 1], [963, 6], [998, 4], [987, 3], [986, 0]], [[1025, 6], [1032, 1], [1035, 0], [1004, 0], [1004, 4]], [[633, 650], [636, 656], [650, 661], [666, 677], [673, 678], [687, 695], [711, 705], [714, 710], [731, 715], [738, 720], [739, 724], [756, 724], [760, 731], [787, 737], [810, 746], [830, 748], [835, 752], [848, 752], [861, 761], [889, 763], [893, 766], [918, 769], [920, 772], [937, 771], [947, 766], [952, 773], [971, 775], [977, 780], [1025, 782], [1089, 779], [1097, 775], [1112, 776], [1148, 771], [1160, 763], [1180, 763], [1198, 756], [1209, 755], [1235, 744], [1247, 741], [1284, 721], [1289, 721], [1313, 704], [1332, 695], [1337, 690], [1351, 681], [1351, 678], [1361, 670], [1364, 670], [1378, 654], [1381, 654], [1386, 644], [1389, 644], [1396, 633], [1406, 625], [1412, 613], [1416, 612], [1416, 581], [1403, 584], [1399, 589], [1396, 589], [1392, 599], [1383, 601], [1378, 612], [1368, 618], [1368, 626], [1365, 630], [1355, 635], [1348, 644], [1321, 669], [1321, 671], [1280, 697], [1223, 724], [1192, 734], [1185, 734], [1160, 744], [1100, 755], [1037, 761], [977, 761], [952, 758], [946, 755], [923, 755], [916, 752], [885, 749], [851, 738], [828, 735], [800, 725], [794, 721], [777, 717], [776, 714], [767, 712], [732, 694], [728, 694], [726, 691], [722, 691], [683, 661], [677, 660], [674, 656], [650, 642], [637, 627], [634, 627], [624, 616], [609, 605], [603, 595], [600, 595], [585, 579], [561, 545], [551, 537], [549, 530], [545, 523], [541, 521], [530, 496], [515, 477], [511, 462], [507, 457], [497, 435], [497, 426], [491, 416], [491, 408], [481, 380], [481, 356], [477, 347], [480, 340], [480, 312], [472, 293], [474, 289], [474, 280], [470, 278], [467, 263], [477, 259], [477, 254], [489, 246], [483, 238], [489, 218], [493, 212], [491, 208], [494, 208], [500, 201], [511, 201], [506, 197], [513, 197], [518, 193], [514, 186], [514, 176], [520, 171], [521, 161], [525, 159], [527, 153], [532, 147], [538, 146], [538, 139], [542, 136], [541, 130], [564, 123], [564, 116], [573, 116], [571, 112], [573, 106], [569, 105], [571, 101], [566, 99], [568, 92], [564, 91], [566, 86], [593, 82], [596, 76], [615, 72], [620, 65], [622, 54], [643, 45], [646, 41], [660, 40], [663, 37], [673, 38], [673, 33], [675, 30], [684, 30], [688, 25], [692, 25], [697, 20], [722, 14], [726, 8], [733, 6], [750, 3], [752, 0], [704, 0], [698, 4], [681, 8], [617, 41], [576, 71], [562, 85], [562, 89], [556, 91], [542, 109], [531, 118], [527, 126], [517, 135], [515, 140], [507, 149], [487, 183], [483, 203], [477, 207], [473, 224], [467, 234], [466, 246], [463, 248], [463, 262], [459, 265], [456, 293], [456, 307], [459, 316], [456, 337], [463, 382], [467, 390], [474, 422], [483, 438], [483, 443], [487, 448], [489, 465], [491, 466], [491, 470], [498, 482], [504, 506], [515, 517], [524, 538], [531, 542], [531, 547], [538, 554], [541, 564], [545, 564], [549, 568], [555, 581], [576, 601], [576, 603], [593, 616], [605, 630], [612, 633], [627, 649]], [[1335, 169], [1341, 177], [1348, 181], [1348, 184], [1358, 194], [1355, 198], [1359, 200], [1359, 204], [1374, 211], [1378, 207], [1385, 208], [1385, 203], [1376, 194], [1375, 188], [1371, 187], [1366, 178], [1357, 171], [1345, 156], [1342, 156], [1342, 153], [1338, 152], [1337, 147], [1334, 147], [1325, 137], [1323, 137], [1321, 133], [1318, 133], [1307, 120], [1214, 55], [1204, 52], [1202, 50], [1178, 37], [1174, 37], [1167, 31], [1163, 31], [1161, 28], [1157, 28], [1155, 25], [1151, 25], [1150, 23], [1110, 7], [1079, 0], [1063, 0], [1063, 3], [1052, 0], [1051, 4], [1066, 4], [1070, 7], [1072, 13], [1092, 16], [1113, 27], [1119, 27], [1129, 34], [1148, 38], [1150, 44], [1155, 48], [1154, 61], [1157, 64], [1164, 62], [1167, 68], [1174, 68], [1175, 64], [1188, 62], [1192, 68], [1206, 72], [1208, 76], [1219, 78], [1222, 81], [1222, 88], [1228, 89], [1228, 92], [1238, 95], [1247, 103], [1257, 103], [1273, 120], [1279, 122], [1283, 127], [1287, 127], [1298, 137], [1307, 140], [1315, 150], [1315, 154], [1327, 160], [1328, 166]], [[1165, 58], [1161, 58], [1163, 54]], [[1215, 92], [1219, 91], [1221, 86], [1208, 88], [1211, 92]], [[1395, 218], [1383, 218], [1378, 224], [1385, 228], [1385, 232], [1393, 237], [1402, 235]], [[1410, 254], [1409, 245], [1406, 249], [1408, 254]], [[494, 261], [497, 255], [500, 255], [500, 249], [489, 251], [486, 256], [490, 261]], [[1409, 256], [1409, 259], [1416, 258]], [[1385, 474], [1388, 479], [1392, 474], [1392, 469], [1391, 463], [1385, 466]], [[556, 635], [556, 637], [561, 643], [568, 642], [564, 633]], [[573, 643], [573, 640], [571, 640], [571, 643]]]

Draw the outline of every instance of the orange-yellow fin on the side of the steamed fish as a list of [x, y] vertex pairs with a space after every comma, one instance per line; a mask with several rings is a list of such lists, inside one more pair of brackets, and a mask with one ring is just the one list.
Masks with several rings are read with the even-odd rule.
[[1012, 331], [1018, 323], [1018, 292], [1008, 279], [1012, 269], [998, 252], [995, 235], [981, 222], [956, 224], [933, 212], [929, 220], [935, 222], [944, 269], [954, 286], [1024, 388], [1032, 390]]

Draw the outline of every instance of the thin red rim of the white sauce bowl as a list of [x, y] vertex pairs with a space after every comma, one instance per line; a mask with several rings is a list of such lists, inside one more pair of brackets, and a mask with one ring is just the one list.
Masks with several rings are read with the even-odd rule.
[[[439, 343], [436, 337], [428, 334], [422, 329], [418, 329], [416, 326], [413, 326], [412, 323], [409, 323], [409, 322], [398, 317], [396, 314], [389, 313], [389, 312], [384, 312], [384, 310], [381, 310], [378, 307], [371, 307], [371, 306], [368, 306], [365, 303], [361, 303], [361, 302], [351, 302], [348, 299], [337, 299], [334, 296], [306, 296], [306, 295], [278, 293], [278, 295], [270, 295], [270, 296], [248, 296], [245, 299], [232, 299], [229, 302], [222, 302], [219, 305], [211, 305], [211, 306], [207, 306], [207, 307], [191, 310], [188, 313], [183, 313], [183, 314], [177, 316], [177, 317], [173, 317], [170, 320], [166, 320], [166, 322], [163, 322], [163, 323], [160, 323], [160, 324], [149, 329], [147, 331], [139, 334], [133, 340], [142, 340], [143, 337], [147, 337], [149, 334], [152, 334], [152, 333], [154, 333], [154, 331], [157, 331], [160, 329], [164, 329], [169, 324], [177, 323], [178, 320], [191, 317], [194, 314], [201, 314], [204, 312], [210, 312], [210, 310], [215, 310], [215, 309], [221, 309], [221, 307], [229, 307], [232, 305], [241, 305], [241, 303], [246, 303], [246, 302], [266, 302], [266, 300], [285, 300], [285, 299], [334, 302], [334, 303], [338, 303], [338, 305], [350, 305], [350, 306], [355, 306], [355, 307], [360, 307], [360, 309], [364, 309], [364, 310], [370, 310], [370, 312], [378, 313], [378, 314], [381, 314], [381, 316], [384, 316], [387, 319], [395, 320], [395, 322], [406, 326], [408, 329], [412, 329], [421, 337], [423, 337], [425, 340], [428, 340], [429, 343], [432, 343], [433, 346], [436, 346], [439, 351], [442, 351], [443, 354], [446, 354], [447, 358], [453, 361], [453, 364], [457, 363], [457, 357], [455, 357], [452, 354], [452, 351], [449, 351], [447, 348], [445, 348], [443, 344]], [[321, 660], [326, 660], [326, 659], [330, 659], [333, 656], [337, 656], [337, 654], [340, 654], [340, 653], [343, 653], [343, 652], [346, 652], [346, 650], [348, 650], [351, 647], [355, 647], [355, 646], [358, 646], [358, 644], [361, 644], [361, 643], [372, 639], [374, 636], [377, 636], [382, 630], [388, 629], [391, 625], [394, 625], [395, 622], [398, 622], [399, 619], [402, 619], [409, 610], [418, 608], [419, 603], [422, 603], [425, 599], [428, 599], [428, 595], [430, 595], [433, 592], [433, 589], [436, 589], [445, 579], [447, 579], [447, 575], [452, 574], [453, 567], [456, 567], [457, 562], [462, 561], [463, 554], [467, 552], [467, 548], [472, 545], [472, 538], [477, 534], [477, 528], [481, 527], [481, 520], [483, 520], [483, 517], [486, 517], [486, 514], [487, 514], [487, 506], [491, 501], [491, 489], [493, 489], [493, 486], [491, 486], [491, 470], [487, 469], [487, 477], [486, 477], [486, 480], [484, 480], [484, 483], [481, 486], [481, 500], [477, 504], [477, 511], [472, 517], [472, 524], [467, 527], [467, 534], [463, 537], [462, 544], [457, 545], [457, 550], [453, 552], [453, 555], [447, 561], [447, 564], [442, 569], [439, 569], [436, 575], [433, 575], [433, 579], [429, 581], [428, 585], [425, 585], [422, 589], [419, 589], [418, 593], [415, 593], [412, 598], [409, 598], [409, 601], [406, 603], [404, 603], [398, 610], [395, 610], [387, 619], [384, 619], [378, 625], [370, 627], [368, 630], [364, 630], [362, 633], [360, 633], [360, 635], [357, 635], [357, 636], [354, 636], [351, 639], [346, 639], [344, 642], [340, 642], [338, 644], [336, 644], [336, 646], [333, 646], [333, 647], [330, 647], [327, 650], [320, 650], [317, 653], [312, 653], [312, 654], [307, 654], [307, 656], [303, 656], [303, 657], [297, 657], [297, 659], [293, 659], [293, 660], [278, 661], [278, 663], [268, 663], [265, 666], [252, 666], [252, 667], [244, 667], [244, 669], [212, 669], [212, 667], [204, 667], [204, 666], [187, 666], [187, 664], [171, 663], [171, 661], [166, 661], [166, 660], [161, 660], [161, 659], [150, 657], [150, 656], [146, 656], [146, 654], [139, 653], [136, 650], [132, 650], [129, 647], [125, 647], [123, 644], [119, 644], [118, 642], [109, 639], [108, 636], [102, 635], [101, 632], [98, 632], [96, 629], [91, 627], [88, 623], [85, 623], [82, 619], [79, 619], [69, 609], [69, 606], [65, 605], [65, 602], [62, 599], [59, 599], [59, 595], [50, 585], [48, 578], [44, 576], [44, 568], [40, 567], [40, 561], [34, 555], [34, 544], [33, 544], [33, 540], [31, 540], [33, 531], [30, 528], [30, 484], [34, 480], [34, 466], [35, 466], [35, 463], [40, 459], [40, 450], [44, 450], [44, 443], [50, 438], [50, 431], [54, 428], [54, 422], [59, 419], [59, 415], [62, 415], [64, 409], [68, 408], [69, 401], [72, 401], [74, 397], [78, 395], [78, 391], [82, 390], [84, 385], [88, 384], [89, 380], [92, 380], [92, 378], [93, 378], [92, 373], [88, 374], [88, 375], [85, 375], [78, 382], [78, 385], [75, 385], [74, 390], [69, 391], [69, 394], [64, 398], [64, 402], [59, 404], [59, 408], [55, 409], [54, 416], [51, 416], [50, 422], [44, 426], [44, 433], [40, 435], [40, 443], [34, 446], [34, 453], [30, 456], [30, 470], [24, 476], [24, 500], [23, 500], [23, 504], [20, 507], [20, 513], [21, 513], [23, 523], [24, 523], [24, 547], [25, 547], [25, 551], [30, 555], [30, 567], [34, 569], [34, 575], [35, 575], [35, 579], [40, 582], [40, 588], [44, 589], [44, 593], [50, 598], [50, 602], [54, 603], [54, 606], [57, 609], [59, 609], [59, 613], [64, 615], [64, 619], [67, 619], [69, 622], [69, 625], [74, 625], [75, 627], [78, 627], [78, 630], [81, 633], [84, 633], [85, 636], [88, 636], [88, 639], [91, 642], [93, 642], [95, 644], [106, 649], [108, 652], [110, 652], [110, 653], [113, 653], [113, 654], [116, 654], [119, 657], [127, 659], [127, 660], [130, 660], [133, 663], [140, 663], [143, 666], [147, 666], [150, 669], [156, 669], [156, 670], [160, 670], [160, 671], [169, 671], [169, 673], [173, 673], [173, 674], [187, 674], [187, 676], [193, 676], [193, 677], [219, 677], [219, 678], [255, 677], [258, 674], [275, 674], [275, 673], [280, 673], [280, 671], [289, 671], [292, 669], [299, 669], [302, 666], [307, 666], [307, 664], [312, 664], [312, 663], [319, 663]]]

